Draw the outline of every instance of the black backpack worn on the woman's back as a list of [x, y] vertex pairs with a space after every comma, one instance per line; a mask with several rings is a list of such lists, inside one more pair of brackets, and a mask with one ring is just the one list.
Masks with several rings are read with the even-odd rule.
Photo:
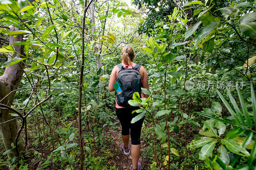
[[118, 64], [119, 72], [116, 76], [116, 82], [119, 84], [121, 88], [121, 93], [117, 93], [116, 103], [122, 107], [132, 107], [129, 105], [128, 101], [132, 99], [132, 95], [134, 92], [138, 92], [141, 98], [141, 76], [139, 64], [136, 64], [132, 69], [127, 69], [123, 66], [123, 64]]

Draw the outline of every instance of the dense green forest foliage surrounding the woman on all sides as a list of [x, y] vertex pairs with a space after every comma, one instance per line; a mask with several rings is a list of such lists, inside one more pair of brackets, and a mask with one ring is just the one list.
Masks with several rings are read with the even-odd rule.
[[[141, 106], [132, 122], [145, 116], [143, 168], [255, 170], [256, 1], [134, 0], [136, 8], [123, 1], [96, 1], [94, 15], [87, 11], [85, 16], [84, 44], [84, 1], [74, 3], [37, 0], [24, 7], [0, 1], [0, 75], [10, 65], [27, 63], [12, 108], [25, 115], [52, 95], [26, 117], [21, 134], [29, 141], [28, 154], [8, 158], [13, 150], [6, 151], [1, 141], [1, 168], [81, 166], [77, 120], [84, 66], [83, 167], [121, 169], [113, 161], [121, 161], [116, 155], [122, 151], [119, 141], [116, 145], [120, 125], [108, 80], [129, 44], [134, 62], [149, 77], [149, 90], [142, 88], [149, 97], [134, 93], [129, 101]], [[10, 32], [8, 26], [19, 31]], [[8, 36], [20, 34], [24, 42], [9, 45]], [[7, 61], [8, 53], [15, 53], [12, 45], [23, 45], [24, 54]]]

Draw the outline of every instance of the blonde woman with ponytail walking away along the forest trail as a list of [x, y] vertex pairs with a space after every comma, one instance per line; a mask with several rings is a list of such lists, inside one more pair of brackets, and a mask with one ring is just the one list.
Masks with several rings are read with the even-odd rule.
[[[133, 63], [133, 59], [135, 57], [134, 50], [131, 46], [125, 46], [122, 49], [122, 64], [126, 68], [132, 68], [136, 65], [136, 63]], [[115, 91], [113, 85], [116, 83], [116, 76], [119, 72], [119, 68], [117, 66], [114, 67], [114, 69], [111, 72], [110, 80], [108, 84], [108, 90], [110, 92]], [[142, 87], [148, 89], [148, 74], [143, 66], [139, 69], [141, 80], [142, 80]], [[148, 97], [148, 95], [144, 94], [145, 97]], [[143, 97], [143, 95], [142, 95]], [[133, 170], [140, 170], [141, 164], [139, 161], [140, 157], [140, 133], [141, 133], [141, 127], [142, 123], [144, 121], [144, 117], [140, 119], [139, 121], [135, 123], [131, 123], [132, 118], [134, 118], [138, 113], [133, 113], [132, 111], [137, 108], [128, 108], [128, 107], [121, 107], [116, 103], [116, 115], [119, 119], [121, 126], [122, 126], [122, 148], [124, 150], [124, 154], [128, 155], [130, 153], [129, 149], [129, 139], [130, 139], [130, 130], [131, 130], [131, 140], [132, 140], [132, 169]]]

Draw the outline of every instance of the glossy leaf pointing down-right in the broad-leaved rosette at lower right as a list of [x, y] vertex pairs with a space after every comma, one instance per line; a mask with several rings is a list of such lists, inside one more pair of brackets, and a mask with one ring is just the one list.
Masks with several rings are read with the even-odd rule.
[[[225, 144], [227, 149], [233, 153], [247, 157], [250, 156], [250, 153], [245, 148], [232, 139], [221, 139], [221, 143]], [[241, 154], [241, 152], [244, 154]]]

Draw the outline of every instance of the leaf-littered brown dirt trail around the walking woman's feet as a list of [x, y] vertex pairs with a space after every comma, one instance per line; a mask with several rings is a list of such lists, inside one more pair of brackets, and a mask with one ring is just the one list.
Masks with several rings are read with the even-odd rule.
[[[118, 128], [119, 131], [115, 131], [113, 128], [109, 127], [106, 128], [105, 134], [107, 134], [110, 138], [109, 140], [112, 140], [112, 145], [110, 146], [110, 151], [113, 154], [113, 156], [109, 159], [108, 163], [110, 165], [116, 166], [117, 169], [119, 170], [131, 170], [132, 169], [132, 154], [130, 152], [129, 155], [125, 155], [123, 152], [123, 149], [121, 147], [122, 137], [121, 137], [121, 128]], [[141, 151], [145, 148], [146, 144], [144, 144], [144, 141], [140, 141], [141, 143]], [[131, 151], [131, 139], [129, 141], [129, 147]], [[117, 148], [117, 151], [115, 150]], [[150, 163], [145, 159], [144, 155], [142, 152], [140, 152], [140, 159], [139, 159], [142, 169], [143, 170], [148, 170], [150, 168], [149, 165]]]

